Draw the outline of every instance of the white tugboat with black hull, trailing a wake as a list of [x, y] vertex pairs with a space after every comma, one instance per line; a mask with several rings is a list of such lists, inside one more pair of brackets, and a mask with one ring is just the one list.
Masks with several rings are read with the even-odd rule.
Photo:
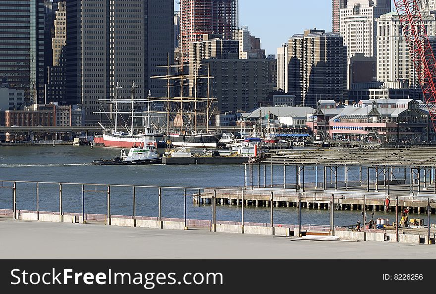
[[160, 158], [156, 152], [156, 146], [140, 146], [129, 149], [126, 154], [125, 150], [121, 150], [120, 157], [114, 157], [109, 160], [99, 159], [92, 162], [94, 165], [147, 165], [161, 164]]

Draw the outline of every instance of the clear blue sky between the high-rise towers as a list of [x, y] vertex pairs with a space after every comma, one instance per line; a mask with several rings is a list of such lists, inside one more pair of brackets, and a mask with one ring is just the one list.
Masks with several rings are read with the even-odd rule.
[[[392, 0], [392, 9], [394, 4]], [[175, 10], [179, 5], [175, 4]], [[331, 31], [331, 0], [239, 0], [239, 27], [261, 39], [266, 54], [305, 29]]]

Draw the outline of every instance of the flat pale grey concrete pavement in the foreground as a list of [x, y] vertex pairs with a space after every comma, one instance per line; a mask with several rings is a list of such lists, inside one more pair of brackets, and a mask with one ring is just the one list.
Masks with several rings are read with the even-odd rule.
[[291, 240], [286, 237], [12, 220], [0, 217], [1, 259], [410, 259], [436, 245]]

